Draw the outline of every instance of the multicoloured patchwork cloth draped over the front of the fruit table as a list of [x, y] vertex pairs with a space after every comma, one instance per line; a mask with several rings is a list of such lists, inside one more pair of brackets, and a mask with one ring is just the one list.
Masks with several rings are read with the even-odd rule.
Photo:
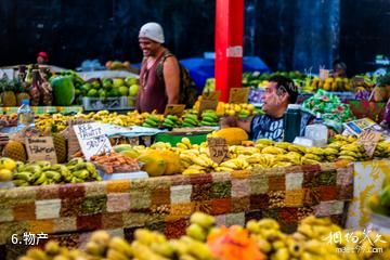
[[128, 239], [141, 226], [178, 237], [197, 210], [220, 225], [274, 218], [292, 231], [312, 213], [343, 225], [352, 191], [353, 165], [341, 164], [2, 190], [0, 256], [25, 250], [11, 239], [24, 232], [70, 247], [99, 229]]

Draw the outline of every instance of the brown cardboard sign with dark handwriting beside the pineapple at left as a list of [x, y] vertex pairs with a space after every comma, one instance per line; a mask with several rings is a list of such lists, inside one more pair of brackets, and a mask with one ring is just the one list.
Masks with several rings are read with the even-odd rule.
[[28, 161], [49, 160], [52, 164], [57, 162], [52, 136], [26, 138], [26, 150]]

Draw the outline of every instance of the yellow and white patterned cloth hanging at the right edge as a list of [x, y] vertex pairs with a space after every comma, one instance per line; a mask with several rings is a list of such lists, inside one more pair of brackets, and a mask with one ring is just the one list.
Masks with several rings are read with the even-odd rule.
[[380, 191], [385, 176], [390, 171], [390, 160], [354, 162], [353, 200], [348, 211], [347, 227], [363, 229], [369, 223], [368, 198]]

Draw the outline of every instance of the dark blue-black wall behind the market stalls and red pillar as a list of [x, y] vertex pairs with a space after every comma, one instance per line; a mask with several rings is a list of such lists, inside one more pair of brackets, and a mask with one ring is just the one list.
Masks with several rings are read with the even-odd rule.
[[[83, 60], [141, 61], [139, 28], [158, 22], [179, 58], [213, 51], [214, 0], [1, 0], [0, 66], [50, 63], [74, 68]], [[332, 66], [341, 57], [355, 74], [390, 55], [390, 0], [246, 0], [246, 55], [273, 70]]]

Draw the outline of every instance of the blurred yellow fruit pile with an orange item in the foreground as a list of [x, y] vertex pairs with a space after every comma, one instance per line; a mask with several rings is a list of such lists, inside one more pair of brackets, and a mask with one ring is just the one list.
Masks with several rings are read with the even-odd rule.
[[[294, 234], [285, 234], [273, 219], [250, 220], [246, 226], [216, 226], [211, 216], [195, 212], [185, 235], [168, 239], [165, 235], [139, 229], [132, 243], [94, 232], [86, 249], [68, 249], [49, 242], [44, 250], [29, 249], [20, 260], [312, 260], [312, 259], [389, 259], [390, 237], [361, 231], [347, 233], [329, 219], [307, 217]], [[340, 234], [339, 240], [328, 236]], [[351, 238], [348, 238], [351, 235]], [[347, 237], [347, 239], [344, 238]], [[378, 238], [379, 237], [379, 238]], [[353, 242], [352, 242], [353, 240]], [[360, 246], [362, 249], [356, 250]], [[343, 248], [351, 251], [340, 252]], [[382, 252], [373, 252], [381, 248]]]

